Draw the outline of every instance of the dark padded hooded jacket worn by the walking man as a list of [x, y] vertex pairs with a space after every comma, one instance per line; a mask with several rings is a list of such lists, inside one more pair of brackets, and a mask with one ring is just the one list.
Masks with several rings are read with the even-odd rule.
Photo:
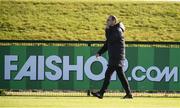
[[125, 60], [125, 41], [124, 41], [124, 27], [122, 23], [110, 26], [105, 30], [106, 41], [103, 47], [98, 51], [102, 55], [108, 50], [109, 62], [108, 66], [123, 66]]

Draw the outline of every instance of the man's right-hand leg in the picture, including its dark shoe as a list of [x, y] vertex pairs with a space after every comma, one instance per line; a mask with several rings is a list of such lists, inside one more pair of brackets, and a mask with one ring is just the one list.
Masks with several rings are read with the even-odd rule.
[[[130, 86], [125, 76], [125, 73], [123, 72], [123, 68], [120, 66], [116, 67], [116, 72], [124, 90], [126, 91], [126, 96], [129, 96], [131, 98], [132, 94], [131, 94]], [[128, 98], [128, 97], [124, 97], [124, 98]]]

